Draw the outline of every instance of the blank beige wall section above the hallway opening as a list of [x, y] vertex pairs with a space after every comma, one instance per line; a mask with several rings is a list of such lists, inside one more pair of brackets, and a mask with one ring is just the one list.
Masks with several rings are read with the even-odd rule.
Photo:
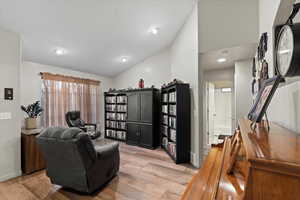
[[258, 0], [199, 1], [200, 52], [252, 44], [257, 35]]

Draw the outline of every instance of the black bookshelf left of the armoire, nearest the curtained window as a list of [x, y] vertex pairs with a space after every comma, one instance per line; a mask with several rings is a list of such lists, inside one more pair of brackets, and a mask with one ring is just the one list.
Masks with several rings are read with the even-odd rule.
[[126, 141], [127, 95], [124, 92], [105, 92], [105, 138]]

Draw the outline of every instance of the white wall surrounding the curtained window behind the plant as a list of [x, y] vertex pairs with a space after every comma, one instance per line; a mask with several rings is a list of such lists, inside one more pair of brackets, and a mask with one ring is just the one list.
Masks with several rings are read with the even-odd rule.
[[[43, 65], [33, 62], [23, 62], [21, 66], [21, 105], [28, 105], [41, 99], [42, 80], [40, 72], [50, 72], [67, 76], [75, 76], [101, 81], [100, 84], [100, 124], [104, 129], [104, 92], [113, 87], [112, 79], [94, 74], [73, 71], [65, 68]], [[25, 116], [25, 115], [24, 115]]]

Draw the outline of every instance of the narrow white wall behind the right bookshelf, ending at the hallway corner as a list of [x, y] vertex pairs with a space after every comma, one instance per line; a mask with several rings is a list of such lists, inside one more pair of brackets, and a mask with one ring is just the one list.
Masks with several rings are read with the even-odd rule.
[[[187, 19], [185, 25], [178, 33], [173, 45], [171, 46], [171, 77], [178, 78], [190, 84], [191, 88], [191, 151], [193, 155], [193, 164], [200, 166], [202, 158], [202, 131], [199, 129], [199, 111], [200, 104], [199, 90], [199, 73], [198, 68], [198, 8]], [[201, 116], [202, 123], [202, 116]], [[202, 126], [200, 126], [202, 128]], [[200, 134], [201, 133], [201, 134]]]

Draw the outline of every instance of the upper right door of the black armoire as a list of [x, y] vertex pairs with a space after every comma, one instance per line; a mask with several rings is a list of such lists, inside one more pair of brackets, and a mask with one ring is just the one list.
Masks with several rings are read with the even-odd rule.
[[142, 92], [141, 93], [141, 122], [152, 123], [152, 113], [153, 113], [153, 93]]

